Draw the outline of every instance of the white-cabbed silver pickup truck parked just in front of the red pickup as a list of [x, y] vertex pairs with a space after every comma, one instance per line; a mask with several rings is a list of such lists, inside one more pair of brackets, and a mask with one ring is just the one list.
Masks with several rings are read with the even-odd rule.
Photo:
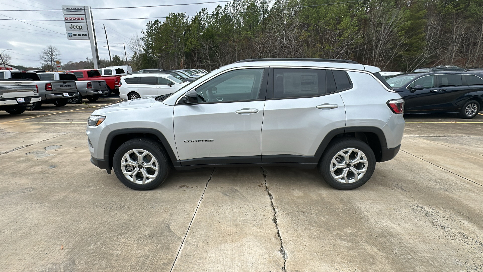
[[99, 99], [99, 95], [109, 93], [105, 80], [77, 80], [73, 73], [66, 72], [45, 72], [37, 73], [41, 80], [74, 80], [77, 85], [79, 96], [69, 98], [69, 103], [80, 104], [83, 98], [87, 98], [90, 102], [95, 102]]

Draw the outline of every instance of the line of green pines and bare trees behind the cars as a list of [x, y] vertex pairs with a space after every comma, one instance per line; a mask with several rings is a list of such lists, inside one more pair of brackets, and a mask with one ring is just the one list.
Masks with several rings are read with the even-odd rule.
[[483, 0], [237, 0], [170, 13], [128, 42], [131, 65], [213, 70], [243, 59], [348, 59], [384, 71], [483, 67]]

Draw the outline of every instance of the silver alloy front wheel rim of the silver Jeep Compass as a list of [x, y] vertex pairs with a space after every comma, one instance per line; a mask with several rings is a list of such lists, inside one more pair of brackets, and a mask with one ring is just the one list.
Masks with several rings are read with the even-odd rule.
[[159, 173], [156, 157], [143, 149], [132, 149], [121, 159], [121, 170], [131, 182], [146, 184], [156, 179]]

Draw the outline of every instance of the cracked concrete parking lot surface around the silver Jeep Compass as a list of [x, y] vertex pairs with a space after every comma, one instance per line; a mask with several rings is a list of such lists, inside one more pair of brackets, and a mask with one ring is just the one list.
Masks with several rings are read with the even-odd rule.
[[140, 192], [89, 162], [93, 110], [0, 112], [0, 271], [483, 271], [483, 115], [408, 116], [352, 191], [227, 167]]

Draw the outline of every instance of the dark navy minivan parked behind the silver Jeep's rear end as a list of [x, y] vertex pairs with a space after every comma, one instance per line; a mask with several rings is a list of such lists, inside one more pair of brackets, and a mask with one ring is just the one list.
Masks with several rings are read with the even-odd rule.
[[386, 81], [404, 99], [405, 114], [458, 113], [473, 118], [483, 105], [483, 75], [478, 73], [408, 73]]

